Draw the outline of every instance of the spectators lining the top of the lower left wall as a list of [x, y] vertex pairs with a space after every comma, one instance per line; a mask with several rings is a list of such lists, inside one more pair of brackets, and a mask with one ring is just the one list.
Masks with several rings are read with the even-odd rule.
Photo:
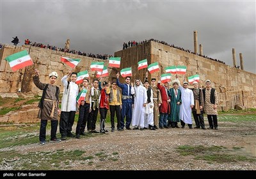
[[60, 48], [60, 47], [56, 47], [54, 45], [49, 45], [49, 44], [44, 45], [43, 43], [31, 42], [28, 39], [25, 40], [25, 45], [31, 45], [33, 47], [40, 47], [40, 48], [44, 48], [44, 49], [50, 49], [52, 51], [67, 52], [67, 53], [70, 53], [70, 54], [77, 54], [77, 55], [81, 55], [81, 56], [88, 56], [88, 57], [91, 57], [91, 58], [99, 58], [99, 59], [104, 59], [104, 60], [108, 60], [110, 57], [113, 57], [113, 56], [108, 55], [108, 54], [93, 54], [93, 53], [86, 53], [86, 52], [81, 52], [81, 51], [75, 51], [75, 50]]

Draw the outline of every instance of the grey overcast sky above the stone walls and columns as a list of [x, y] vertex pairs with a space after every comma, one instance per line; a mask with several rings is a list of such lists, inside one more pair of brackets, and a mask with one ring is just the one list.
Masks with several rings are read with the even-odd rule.
[[[31, 42], [94, 54], [122, 50], [129, 40], [154, 38], [194, 51], [193, 31], [204, 55], [256, 74], [255, 1], [13, 1], [0, 0], [0, 43]], [[198, 47], [199, 49], [199, 47]]]

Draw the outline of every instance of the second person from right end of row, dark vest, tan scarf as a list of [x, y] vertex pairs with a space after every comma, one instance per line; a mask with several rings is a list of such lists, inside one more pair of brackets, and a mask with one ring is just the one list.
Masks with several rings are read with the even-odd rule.
[[203, 92], [202, 92], [202, 89], [198, 88], [197, 81], [193, 82], [193, 86], [194, 86], [194, 88], [192, 88], [191, 90], [193, 91], [195, 105], [192, 109], [192, 113], [193, 113], [193, 117], [194, 117], [194, 120], [196, 123], [196, 127], [194, 127], [194, 128], [201, 127], [202, 129], [205, 129], [204, 111], [203, 111], [203, 107], [204, 107]]

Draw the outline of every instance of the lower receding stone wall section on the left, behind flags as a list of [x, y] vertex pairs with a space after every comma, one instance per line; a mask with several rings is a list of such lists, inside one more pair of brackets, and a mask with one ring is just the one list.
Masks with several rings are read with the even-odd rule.
[[[33, 59], [34, 65], [27, 66], [13, 72], [8, 62], [4, 59], [6, 56], [15, 52], [27, 50], [29, 55]], [[108, 66], [108, 61], [90, 58], [87, 56], [79, 56], [76, 54], [70, 54], [60, 51], [52, 51], [50, 49], [42, 49], [40, 47], [30, 47], [30, 45], [22, 45], [22, 47], [16, 47], [13, 45], [4, 45], [0, 50], [0, 93], [17, 93], [20, 92], [31, 92], [31, 93], [42, 93], [42, 91], [36, 88], [33, 84], [34, 68], [38, 68], [40, 71], [40, 81], [49, 82], [49, 74], [56, 71], [59, 75], [57, 86], [60, 86], [61, 92], [61, 78], [72, 70], [69, 66], [61, 62], [61, 56], [68, 58], [81, 59], [81, 62], [76, 66], [74, 72], [81, 72], [88, 70], [90, 77], [95, 77], [95, 72], [90, 70], [90, 64], [92, 61], [104, 61], [104, 64]], [[112, 68], [108, 68], [111, 73]], [[103, 80], [108, 80], [108, 77]]]

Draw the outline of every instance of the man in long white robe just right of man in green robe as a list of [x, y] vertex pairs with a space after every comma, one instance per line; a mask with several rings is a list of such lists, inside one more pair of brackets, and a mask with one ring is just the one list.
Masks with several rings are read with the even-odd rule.
[[[179, 81], [179, 79], [177, 79]], [[179, 83], [179, 89], [181, 91], [182, 104], [180, 105], [180, 124], [181, 128], [185, 127], [185, 123], [188, 124], [189, 128], [192, 127], [192, 116], [191, 111], [194, 107], [194, 95], [193, 91], [188, 88], [188, 82], [183, 82], [183, 87]]]

